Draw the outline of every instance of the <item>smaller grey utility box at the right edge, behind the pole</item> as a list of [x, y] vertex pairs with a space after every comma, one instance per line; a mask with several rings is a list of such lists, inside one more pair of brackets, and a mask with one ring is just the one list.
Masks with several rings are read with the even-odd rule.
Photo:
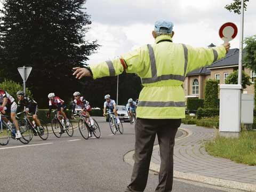
[[254, 95], [242, 94], [241, 123], [253, 124]]

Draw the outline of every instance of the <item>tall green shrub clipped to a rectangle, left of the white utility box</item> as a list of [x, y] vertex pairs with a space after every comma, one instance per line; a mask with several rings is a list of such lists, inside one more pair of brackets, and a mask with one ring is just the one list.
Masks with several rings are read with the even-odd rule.
[[219, 86], [218, 81], [208, 80], [205, 85], [205, 100], [204, 108], [219, 108], [218, 105], [218, 93]]

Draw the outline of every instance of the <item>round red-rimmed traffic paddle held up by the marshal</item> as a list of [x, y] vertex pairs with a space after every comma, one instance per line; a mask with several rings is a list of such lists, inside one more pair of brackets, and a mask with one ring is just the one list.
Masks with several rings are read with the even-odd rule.
[[219, 35], [224, 43], [228, 43], [236, 37], [237, 31], [238, 29], [234, 23], [227, 22], [220, 27]]

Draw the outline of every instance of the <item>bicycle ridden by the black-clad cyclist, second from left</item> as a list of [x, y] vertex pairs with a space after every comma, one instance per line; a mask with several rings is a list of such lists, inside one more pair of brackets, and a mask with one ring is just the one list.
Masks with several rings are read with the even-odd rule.
[[[18, 113], [17, 115], [25, 114], [25, 113], [26, 113], [26, 111], [22, 111], [21, 113]], [[30, 115], [30, 114], [28, 114], [28, 115]], [[43, 122], [43, 120], [39, 119], [39, 121], [41, 122], [42, 128], [43, 128], [43, 129], [40, 129], [36, 125], [35, 121], [31, 122], [29, 120], [29, 117], [32, 117], [32, 116], [28, 116], [28, 115], [25, 114], [23, 119], [20, 119], [18, 122], [20, 122], [20, 124], [24, 124], [25, 126], [28, 126], [28, 128], [33, 131], [34, 135], [38, 135], [42, 140], [46, 140], [49, 135], [47, 125]], [[33, 134], [32, 134], [31, 139], [32, 138], [33, 138]]]

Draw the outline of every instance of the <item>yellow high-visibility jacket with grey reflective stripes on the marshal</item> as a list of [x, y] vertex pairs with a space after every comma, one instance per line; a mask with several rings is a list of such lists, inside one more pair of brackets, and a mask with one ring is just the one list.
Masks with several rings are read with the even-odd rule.
[[187, 73], [225, 57], [224, 46], [194, 48], [172, 43], [169, 35], [121, 55], [112, 61], [91, 65], [93, 78], [135, 73], [141, 77], [137, 117], [150, 119], [185, 118], [185, 93], [182, 84]]

